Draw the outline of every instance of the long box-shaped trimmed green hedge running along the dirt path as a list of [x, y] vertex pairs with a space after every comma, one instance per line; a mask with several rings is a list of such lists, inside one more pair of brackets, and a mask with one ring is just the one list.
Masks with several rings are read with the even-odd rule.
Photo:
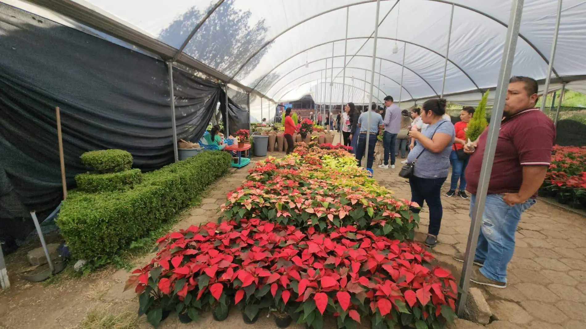
[[202, 152], [142, 175], [134, 189], [98, 194], [71, 191], [57, 225], [75, 258], [113, 256], [161, 227], [227, 172], [227, 152]]

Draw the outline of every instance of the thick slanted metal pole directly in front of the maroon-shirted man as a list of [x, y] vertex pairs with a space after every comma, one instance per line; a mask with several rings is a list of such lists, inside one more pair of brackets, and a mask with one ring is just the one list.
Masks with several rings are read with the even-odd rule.
[[[507, 28], [507, 35], [505, 39], [505, 49], [503, 51], [503, 59], [500, 64], [499, 80], [497, 80], [495, 102], [492, 108], [492, 118], [502, 118], [503, 108], [505, 107], [505, 98], [507, 95], [507, 88], [509, 86], [509, 77], [511, 68], [513, 67], [513, 59], [515, 58], [515, 48], [517, 46], [517, 39], [519, 37], [519, 26], [521, 25], [521, 16], [523, 13], [523, 0], [513, 0], [511, 5], [511, 13], [509, 18], [509, 28]], [[464, 316], [466, 307], [466, 298], [468, 297], [468, 287], [470, 285], [470, 276], [472, 274], [472, 263], [476, 253], [476, 243], [478, 243], [478, 235], [482, 225], [482, 214], [484, 213], [484, 206], [486, 201], [486, 193], [488, 191], [488, 184], [490, 180], [490, 172], [492, 172], [492, 163], [495, 159], [496, 142], [499, 138], [500, 120], [494, 120], [489, 125], [488, 136], [486, 138], [486, 148], [484, 157], [482, 158], [482, 169], [479, 177], [478, 191], [476, 193], [476, 200], [472, 208], [472, 222], [470, 224], [470, 231], [468, 234], [468, 244], [466, 245], [466, 253], [464, 257], [464, 267], [462, 268], [462, 276], [460, 280], [461, 295], [458, 298], [458, 316]]]

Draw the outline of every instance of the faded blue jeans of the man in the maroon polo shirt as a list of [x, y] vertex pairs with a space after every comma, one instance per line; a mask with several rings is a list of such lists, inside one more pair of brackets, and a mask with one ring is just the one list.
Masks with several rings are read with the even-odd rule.
[[[476, 196], [470, 197], [470, 216]], [[474, 259], [484, 262], [480, 272], [490, 280], [507, 282], [507, 265], [515, 251], [515, 232], [523, 211], [536, 203], [529, 199], [525, 203], [510, 206], [503, 201], [502, 194], [486, 196], [482, 227], [476, 244]]]

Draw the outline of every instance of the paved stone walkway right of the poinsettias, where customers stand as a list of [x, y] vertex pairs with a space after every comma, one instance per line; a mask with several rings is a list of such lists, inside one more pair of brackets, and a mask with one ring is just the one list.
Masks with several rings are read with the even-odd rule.
[[[375, 169], [374, 178], [399, 198], [411, 198], [409, 183], [395, 170]], [[447, 192], [449, 178], [442, 194]], [[456, 251], [464, 252], [470, 218], [469, 201], [442, 196], [444, 217], [433, 253], [449, 268]], [[421, 213], [417, 239], [423, 241], [429, 224], [427, 210]], [[487, 328], [584, 329], [586, 328], [586, 218], [539, 202], [521, 217], [516, 248], [509, 263], [506, 289], [482, 287], [494, 314]], [[481, 287], [472, 283], [472, 286]], [[480, 325], [458, 321], [455, 328]]]

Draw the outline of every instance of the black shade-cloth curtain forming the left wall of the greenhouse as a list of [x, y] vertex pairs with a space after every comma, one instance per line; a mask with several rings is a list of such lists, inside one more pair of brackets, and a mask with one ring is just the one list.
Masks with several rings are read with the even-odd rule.
[[[222, 85], [178, 68], [173, 83], [178, 138], [197, 140], [224, 107]], [[142, 170], [171, 163], [169, 100], [163, 61], [0, 3], [0, 233], [28, 234], [29, 211], [62, 199], [55, 107], [72, 188], [88, 150], [127, 150]], [[228, 102], [230, 124], [246, 128]]]

